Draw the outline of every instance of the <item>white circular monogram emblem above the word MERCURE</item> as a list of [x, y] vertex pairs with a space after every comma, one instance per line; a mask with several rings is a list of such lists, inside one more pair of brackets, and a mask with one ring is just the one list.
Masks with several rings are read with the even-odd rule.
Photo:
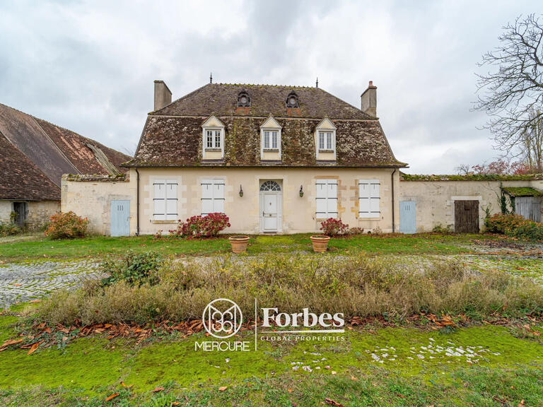
[[205, 307], [202, 322], [211, 336], [226, 339], [238, 333], [243, 323], [243, 314], [232, 300], [218, 298]]

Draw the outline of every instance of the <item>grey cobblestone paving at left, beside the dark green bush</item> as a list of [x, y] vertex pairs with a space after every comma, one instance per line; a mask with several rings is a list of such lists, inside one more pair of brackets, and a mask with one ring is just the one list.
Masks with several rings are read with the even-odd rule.
[[100, 276], [95, 261], [35, 261], [0, 265], [0, 309], [44, 297], [59, 288], [77, 287]]

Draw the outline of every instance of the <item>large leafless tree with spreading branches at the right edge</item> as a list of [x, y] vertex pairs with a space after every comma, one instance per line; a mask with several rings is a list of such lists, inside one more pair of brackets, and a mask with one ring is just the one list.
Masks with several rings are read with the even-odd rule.
[[[504, 155], [535, 160], [543, 167], [541, 129], [543, 121], [543, 24], [535, 14], [503, 27], [501, 44], [484, 54], [479, 66], [488, 73], [477, 75], [476, 110], [489, 114], [496, 147]], [[537, 130], [539, 129], [539, 130]], [[538, 139], [532, 136], [539, 135]], [[539, 151], [539, 153], [534, 153]]]

